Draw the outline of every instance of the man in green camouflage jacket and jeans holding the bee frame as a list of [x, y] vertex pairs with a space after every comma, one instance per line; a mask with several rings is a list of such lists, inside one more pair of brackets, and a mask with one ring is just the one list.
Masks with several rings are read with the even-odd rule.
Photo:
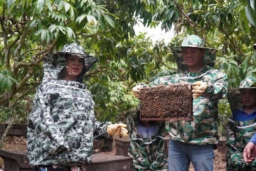
[[[172, 47], [172, 50], [179, 73], [156, 78], [149, 85], [193, 84], [194, 120], [167, 124], [170, 135], [169, 171], [188, 171], [190, 162], [195, 171], [212, 171], [218, 142], [218, 101], [226, 96], [227, 76], [212, 68], [216, 50], [206, 48], [203, 39], [197, 35], [186, 37], [181, 46]], [[139, 83], [133, 87], [137, 98], [144, 86]]]

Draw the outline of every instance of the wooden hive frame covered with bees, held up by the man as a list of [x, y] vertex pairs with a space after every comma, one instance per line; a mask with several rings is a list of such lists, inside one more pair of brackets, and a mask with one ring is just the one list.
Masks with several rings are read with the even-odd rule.
[[146, 87], [140, 90], [140, 120], [193, 120], [191, 84]]

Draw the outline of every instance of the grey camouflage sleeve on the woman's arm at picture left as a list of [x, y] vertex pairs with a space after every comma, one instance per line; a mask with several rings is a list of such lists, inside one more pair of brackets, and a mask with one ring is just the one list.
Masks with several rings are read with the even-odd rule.
[[43, 149], [49, 154], [55, 154], [58, 151], [68, 149], [69, 146], [50, 115], [51, 103], [47, 90], [42, 90], [37, 91], [29, 120], [37, 130], [39, 142], [42, 143]]

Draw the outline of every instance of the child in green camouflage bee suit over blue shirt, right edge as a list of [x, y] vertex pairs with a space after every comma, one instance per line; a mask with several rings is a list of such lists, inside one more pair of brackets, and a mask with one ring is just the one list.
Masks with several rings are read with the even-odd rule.
[[227, 126], [227, 171], [255, 171], [256, 160], [245, 162], [243, 150], [256, 133], [256, 78], [247, 76], [239, 88], [228, 91], [233, 113]]

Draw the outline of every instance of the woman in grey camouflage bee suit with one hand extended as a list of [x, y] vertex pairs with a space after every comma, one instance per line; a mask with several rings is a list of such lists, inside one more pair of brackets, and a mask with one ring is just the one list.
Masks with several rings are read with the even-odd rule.
[[86, 171], [94, 138], [127, 136], [125, 124], [95, 119], [94, 101], [82, 78], [96, 62], [75, 43], [44, 59], [27, 132], [27, 156], [36, 171]]

